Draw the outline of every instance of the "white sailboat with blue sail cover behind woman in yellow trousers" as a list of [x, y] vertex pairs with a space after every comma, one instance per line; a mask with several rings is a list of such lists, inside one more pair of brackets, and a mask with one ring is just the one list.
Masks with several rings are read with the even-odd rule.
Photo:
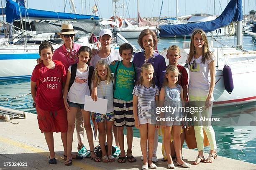
[[[179, 24], [179, 25], [161, 25], [160, 37], [184, 36], [192, 34], [195, 28], [201, 28], [206, 33], [216, 30], [219, 27], [226, 26], [231, 22], [237, 23], [237, 46], [210, 48], [215, 55], [216, 63], [216, 83], [213, 92], [214, 107], [243, 104], [250, 101], [256, 101], [256, 51], [249, 51], [242, 45], [242, 0], [230, 0], [223, 13], [212, 21]], [[181, 63], [184, 63], [189, 53], [189, 43], [184, 42], [181, 49]], [[166, 50], [161, 52], [166, 56]], [[166, 63], [169, 61], [166, 59]], [[232, 74], [233, 91], [225, 89], [223, 68], [228, 65]]]

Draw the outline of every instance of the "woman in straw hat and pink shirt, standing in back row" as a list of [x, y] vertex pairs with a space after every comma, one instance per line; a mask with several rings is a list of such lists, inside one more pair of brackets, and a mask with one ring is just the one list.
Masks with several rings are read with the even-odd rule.
[[[77, 33], [77, 31], [74, 31], [72, 24], [62, 24], [61, 32], [57, 33], [61, 37], [61, 39], [64, 41], [64, 43], [62, 46], [60, 46], [54, 51], [54, 55], [52, 59], [61, 61], [65, 66], [66, 72], [69, 66], [79, 61], [77, 52], [81, 47], [81, 45], [74, 43], [75, 33]], [[83, 140], [84, 140], [83, 117], [80, 109], [76, 114], [75, 127], [77, 130], [77, 140], [78, 140], [77, 150], [79, 151], [81, 149], [85, 149], [83, 145]], [[66, 158], [67, 158], [66, 155], [64, 155], [64, 159]]]

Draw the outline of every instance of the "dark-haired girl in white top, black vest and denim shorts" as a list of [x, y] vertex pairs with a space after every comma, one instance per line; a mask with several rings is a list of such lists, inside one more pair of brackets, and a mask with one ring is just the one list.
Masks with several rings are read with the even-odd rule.
[[67, 161], [65, 165], [72, 165], [72, 142], [74, 134], [74, 122], [77, 110], [81, 109], [84, 119], [84, 128], [90, 146], [91, 159], [100, 162], [100, 158], [95, 155], [93, 147], [93, 134], [90, 124], [90, 112], [84, 111], [84, 97], [90, 96], [90, 83], [93, 67], [88, 66], [92, 56], [92, 51], [87, 46], [79, 48], [79, 62], [69, 66], [67, 81], [64, 87], [64, 104], [67, 110], [68, 132], [67, 132]]

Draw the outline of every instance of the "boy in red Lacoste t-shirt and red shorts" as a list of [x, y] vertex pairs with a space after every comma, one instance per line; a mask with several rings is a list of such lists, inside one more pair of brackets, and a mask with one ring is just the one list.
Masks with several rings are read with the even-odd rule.
[[42, 63], [36, 65], [31, 76], [31, 94], [36, 107], [39, 129], [44, 133], [50, 151], [49, 164], [55, 165], [53, 132], [61, 132], [64, 155], [67, 155], [67, 112], [62, 87], [66, 71], [60, 61], [51, 60], [53, 47], [47, 41], [39, 46]]

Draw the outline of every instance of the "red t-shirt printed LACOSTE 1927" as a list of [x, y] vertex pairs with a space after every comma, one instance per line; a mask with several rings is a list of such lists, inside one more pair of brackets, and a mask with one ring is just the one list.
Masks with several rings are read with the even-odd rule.
[[[36, 89], [36, 106], [47, 111], [59, 110], [64, 107], [62, 95], [62, 83], [66, 81], [66, 71], [60, 61], [54, 61], [54, 69], [48, 69], [41, 64], [41, 75], [38, 69], [34, 69], [31, 81], [36, 82], [40, 77], [39, 86]], [[38, 65], [40, 65], [38, 64]]]

